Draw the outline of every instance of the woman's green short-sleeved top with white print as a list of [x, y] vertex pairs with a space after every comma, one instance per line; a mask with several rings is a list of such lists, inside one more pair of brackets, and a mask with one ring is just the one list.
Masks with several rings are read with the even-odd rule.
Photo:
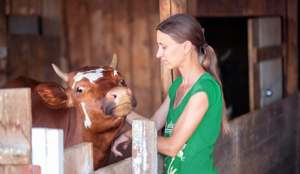
[[173, 110], [178, 86], [182, 83], [182, 76], [176, 78], [169, 89], [170, 108], [165, 125], [165, 137], [172, 134], [173, 127], [181, 115], [190, 97], [197, 92], [204, 91], [208, 96], [208, 110], [202, 121], [176, 157], [165, 155], [165, 174], [216, 174], [213, 167], [211, 153], [214, 143], [220, 133], [222, 117], [222, 96], [219, 84], [209, 73], [204, 73], [188, 91], [182, 102]]

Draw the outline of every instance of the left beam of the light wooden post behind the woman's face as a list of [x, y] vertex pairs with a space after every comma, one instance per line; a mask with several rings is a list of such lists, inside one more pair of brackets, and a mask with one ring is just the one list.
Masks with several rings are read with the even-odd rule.
[[[160, 21], [171, 15], [170, 0], [159, 1]], [[164, 101], [168, 95], [168, 90], [173, 82], [172, 70], [168, 70], [161, 61], [161, 100]]]

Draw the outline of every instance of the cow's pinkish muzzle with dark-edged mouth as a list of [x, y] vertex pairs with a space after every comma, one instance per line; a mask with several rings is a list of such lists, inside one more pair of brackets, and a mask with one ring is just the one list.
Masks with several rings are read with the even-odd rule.
[[137, 100], [127, 87], [114, 87], [102, 98], [105, 115], [127, 116], [137, 106]]

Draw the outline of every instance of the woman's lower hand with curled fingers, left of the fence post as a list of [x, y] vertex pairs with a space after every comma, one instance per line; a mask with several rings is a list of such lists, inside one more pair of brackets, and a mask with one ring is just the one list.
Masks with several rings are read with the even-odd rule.
[[119, 144], [124, 143], [123, 145], [123, 149], [127, 149], [128, 144], [130, 143], [132, 139], [132, 130], [125, 130], [122, 134], [120, 134], [118, 137], [116, 137], [115, 141], [113, 142], [112, 145], [112, 152], [115, 154], [115, 156], [117, 157], [117, 155], [122, 156], [123, 154], [121, 152], [119, 152], [117, 150], [117, 147], [119, 146]]

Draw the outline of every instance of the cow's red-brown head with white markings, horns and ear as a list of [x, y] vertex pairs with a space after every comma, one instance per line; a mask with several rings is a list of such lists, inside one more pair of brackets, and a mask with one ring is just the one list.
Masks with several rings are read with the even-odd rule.
[[64, 89], [55, 83], [44, 83], [38, 85], [35, 92], [52, 108], [76, 107], [87, 129], [105, 131], [137, 105], [122, 74], [116, 71], [116, 54], [106, 67], [86, 66], [64, 73], [56, 65], [52, 66], [69, 87]]

